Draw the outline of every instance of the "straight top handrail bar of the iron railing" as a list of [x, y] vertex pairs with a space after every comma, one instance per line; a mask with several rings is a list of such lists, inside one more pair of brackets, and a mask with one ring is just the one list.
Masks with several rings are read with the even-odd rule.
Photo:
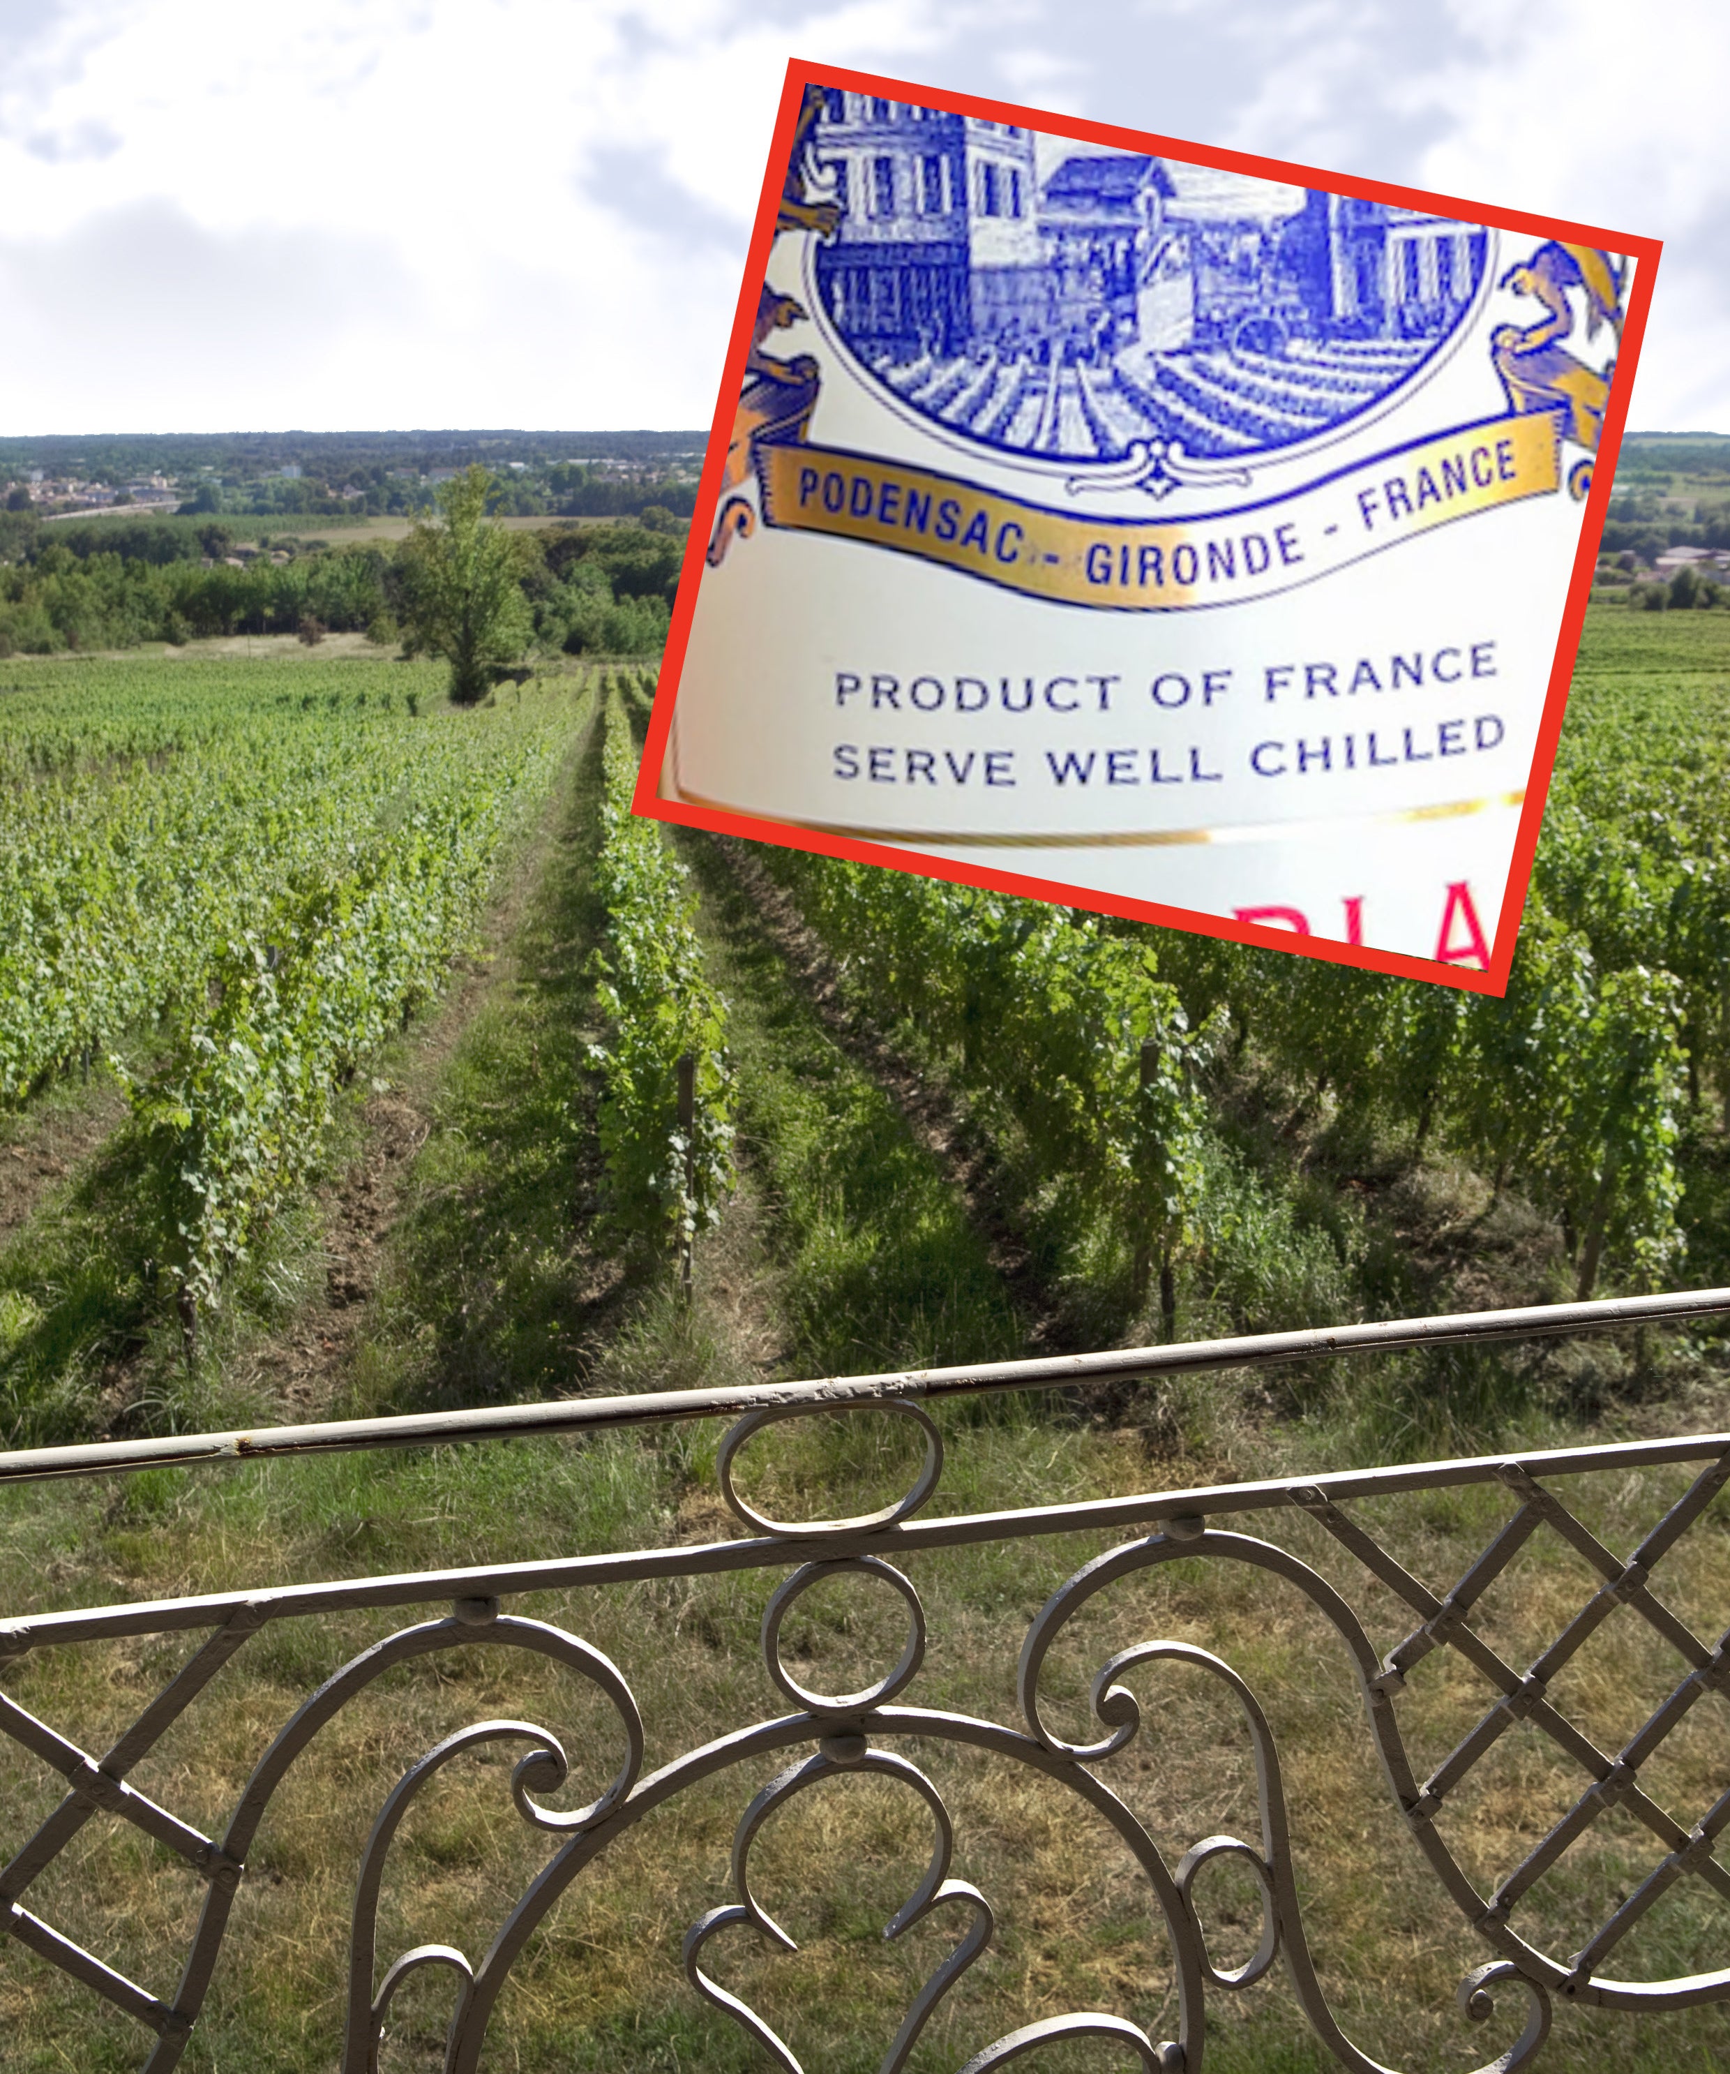
[[1002, 1390], [1068, 1390], [1079, 1383], [1155, 1381], [1209, 1369], [1259, 1369], [1334, 1354], [1388, 1354], [1411, 1346], [1485, 1340], [1537, 1340], [1612, 1325], [1662, 1325], [1730, 1313], [1730, 1288], [1664, 1296], [1612, 1296], [1601, 1302], [1525, 1305], [1508, 1311], [1454, 1311], [1371, 1325], [1315, 1325], [1307, 1332], [1259, 1332], [1234, 1340], [1178, 1340], [1097, 1354], [1048, 1354], [1037, 1361], [985, 1361], [950, 1369], [900, 1369], [880, 1375], [832, 1375], [797, 1383], [743, 1383], [722, 1390], [645, 1390], [622, 1398], [554, 1398], [546, 1404], [490, 1404], [456, 1412], [407, 1412], [392, 1419], [328, 1419], [313, 1425], [251, 1427], [228, 1433], [168, 1433], [151, 1439], [85, 1441], [71, 1448], [0, 1452], [0, 1483], [48, 1477], [104, 1477], [133, 1468], [191, 1468], [201, 1462], [263, 1462], [297, 1454], [344, 1454], [359, 1448], [427, 1448], [452, 1441], [527, 1439], [543, 1433], [599, 1433], [612, 1427], [666, 1425], [682, 1419], [741, 1419], [765, 1410], [821, 1410], [871, 1402], [981, 1396]]

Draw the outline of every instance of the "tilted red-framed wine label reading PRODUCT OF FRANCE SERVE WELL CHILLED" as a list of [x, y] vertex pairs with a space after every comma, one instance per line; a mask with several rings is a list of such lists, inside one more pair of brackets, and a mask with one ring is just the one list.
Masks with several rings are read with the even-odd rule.
[[794, 64], [639, 811], [1502, 991], [1655, 255]]

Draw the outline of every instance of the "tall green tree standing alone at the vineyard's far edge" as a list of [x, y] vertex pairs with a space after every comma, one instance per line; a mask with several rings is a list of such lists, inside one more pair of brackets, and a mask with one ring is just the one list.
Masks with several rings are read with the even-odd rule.
[[529, 643], [525, 541], [487, 523], [494, 477], [467, 467], [436, 492], [438, 516], [402, 541], [409, 647], [450, 664], [450, 697], [473, 705]]

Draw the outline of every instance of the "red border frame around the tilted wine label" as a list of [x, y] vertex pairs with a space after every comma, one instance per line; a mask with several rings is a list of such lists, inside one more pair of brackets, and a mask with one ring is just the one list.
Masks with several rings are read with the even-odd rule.
[[[1037, 879], [1019, 871], [994, 871], [983, 865], [956, 863], [942, 857], [927, 857], [923, 850], [902, 850], [886, 842], [861, 842], [853, 836], [830, 836], [817, 830], [799, 828], [792, 821], [759, 819], [757, 815], [726, 813], [714, 807], [689, 807], [680, 801], [658, 796], [666, 736], [672, 726], [672, 707], [678, 699], [678, 680], [685, 670], [685, 649], [691, 639], [691, 616], [697, 610], [697, 587], [703, 579], [703, 554], [716, 518], [720, 500], [720, 475], [732, 433], [732, 413], [745, 380], [745, 357], [751, 348], [751, 326], [757, 315], [757, 292], [770, 261], [776, 234], [776, 209], [780, 203], [786, 156], [792, 147], [792, 127], [807, 85], [848, 87], [857, 93], [880, 93], [886, 100], [911, 102], [925, 108], [942, 108], [952, 114], [981, 116], [989, 122], [1019, 122], [1025, 129], [1045, 131], [1058, 137], [1077, 137], [1085, 143], [1122, 145], [1135, 151], [1168, 151], [1174, 158], [1199, 166], [1213, 166], [1224, 172], [1247, 172], [1267, 180], [1290, 180], [1303, 187], [1321, 187], [1336, 195], [1352, 195], [1363, 201], [1392, 201], [1402, 207], [1429, 209], [1442, 216], [1458, 216], [1464, 222], [1487, 224], [1498, 230], [1518, 230], [1539, 239], [1566, 239], [1570, 243], [1597, 245], [1606, 251], [1628, 253], [1639, 261], [1635, 268], [1633, 295], [1622, 321], [1622, 344], [1616, 359], [1616, 382], [1610, 388], [1610, 404], [1603, 417], [1603, 433], [1593, 467], [1593, 485], [1581, 518], [1581, 543], [1574, 556], [1574, 574], [1568, 585], [1568, 599], [1562, 612], [1562, 633], [1556, 643], [1556, 662], [1550, 670], [1550, 689], [1543, 699], [1543, 720], [1533, 751], [1527, 798], [1520, 811], [1520, 828], [1514, 838], [1514, 857], [1508, 869], [1508, 886], [1502, 896], [1502, 913], [1496, 923], [1496, 942], [1489, 952], [1489, 969], [1475, 973], [1458, 964], [1438, 964], [1431, 958], [1415, 958], [1398, 950], [1375, 950], [1361, 944], [1340, 944], [1334, 937], [1292, 935], [1288, 929], [1267, 929], [1257, 923], [1240, 923], [1226, 915], [1207, 915], [1197, 908], [1166, 906], [1153, 900], [1128, 900], [1116, 894], [1095, 894], [1083, 886], [1058, 879]], [[1610, 506], [1610, 489], [1616, 479], [1616, 456], [1622, 446], [1622, 427], [1628, 417], [1628, 396], [1635, 386], [1641, 340], [1645, 338], [1647, 313], [1651, 309], [1651, 288], [1657, 274], [1657, 257], [1664, 245], [1659, 239], [1641, 239], [1620, 230], [1601, 230], [1593, 224], [1576, 224], [1558, 216], [1533, 216], [1525, 209], [1502, 209], [1489, 203], [1464, 201], [1452, 195], [1435, 195], [1419, 187], [1396, 187], [1390, 180], [1363, 180], [1350, 174], [1323, 172], [1315, 166], [1299, 166], [1288, 160], [1259, 158], [1253, 151], [1222, 151], [1209, 145], [1195, 145], [1178, 137], [1160, 137], [1149, 131], [1122, 129], [1112, 122], [1085, 122], [1079, 116], [1056, 116], [1039, 108], [1021, 108], [1014, 102], [992, 102], [977, 93], [950, 93], [938, 87], [913, 85], [904, 79], [880, 79], [875, 73], [855, 73], [834, 64], [809, 64], [790, 58], [782, 85], [780, 110], [776, 114], [770, 158], [763, 170], [763, 193], [757, 203], [757, 220], [751, 228], [751, 247], [745, 257], [745, 280], [738, 295], [738, 311], [732, 319], [732, 340], [722, 369], [720, 398], [716, 402], [709, 448], [703, 458], [703, 477], [697, 489], [697, 510], [691, 521], [691, 537], [685, 548], [685, 566], [678, 577], [678, 597], [672, 608], [662, 657], [660, 680], [655, 684], [655, 705], [649, 716], [643, 763], [637, 774], [637, 790], [631, 801], [633, 813], [649, 815], [658, 821], [678, 821], [687, 828], [707, 828], [724, 836], [749, 836], [757, 842], [776, 842], [782, 848], [813, 850], [819, 857], [844, 857], [863, 865], [888, 865], [896, 871], [913, 871], [921, 877], [950, 879], [958, 886], [981, 886], [992, 892], [1019, 894], [1031, 900], [1048, 900], [1058, 906], [1079, 906], [1099, 915], [1122, 915], [1128, 921], [1149, 921], [1193, 935], [1211, 935], [1228, 944], [1261, 944], [1269, 950], [1286, 950], [1296, 956], [1323, 958], [1332, 964], [1350, 964], [1361, 971], [1390, 973], [1398, 979], [1427, 979], [1431, 983], [1464, 987], [1473, 993], [1506, 993], [1508, 973], [1514, 962], [1514, 944], [1520, 933], [1527, 884], [1531, 879], [1533, 852], [1543, 821], [1543, 803], [1550, 792], [1550, 774], [1556, 765], [1556, 745], [1562, 734], [1562, 716], [1568, 703], [1568, 684], [1574, 672], [1574, 655], [1581, 645], [1591, 577], [1597, 564], [1597, 543], [1603, 533], [1603, 518]]]

